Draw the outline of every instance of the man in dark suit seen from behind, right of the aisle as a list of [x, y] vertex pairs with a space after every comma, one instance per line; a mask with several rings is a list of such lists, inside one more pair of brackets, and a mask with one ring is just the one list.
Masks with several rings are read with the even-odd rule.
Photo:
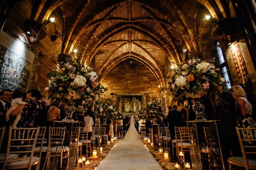
[[177, 110], [178, 106], [173, 105], [172, 111], [168, 113], [169, 129], [171, 140], [175, 139], [175, 127], [181, 127], [182, 116], [181, 112]]

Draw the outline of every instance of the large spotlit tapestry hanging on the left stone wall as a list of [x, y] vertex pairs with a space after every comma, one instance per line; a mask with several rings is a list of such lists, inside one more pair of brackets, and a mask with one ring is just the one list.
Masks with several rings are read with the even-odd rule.
[[0, 89], [26, 91], [32, 63], [0, 45]]

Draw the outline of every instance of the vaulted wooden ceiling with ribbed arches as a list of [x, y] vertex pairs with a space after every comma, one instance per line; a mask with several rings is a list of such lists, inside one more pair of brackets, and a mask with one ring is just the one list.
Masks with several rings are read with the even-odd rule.
[[[199, 37], [194, 35], [202, 26], [204, 14], [211, 14], [217, 20], [228, 14], [227, 1], [222, 0], [41, 0], [37, 3], [31, 19], [42, 22], [54, 10], [59, 10], [65, 35], [62, 52], [78, 49], [83, 60], [93, 61], [95, 69], [99, 68], [103, 75], [119, 62], [132, 58], [147, 66], [156, 78], [163, 77], [165, 62], [182, 62], [182, 50], [189, 50], [192, 40]], [[193, 44], [194, 51], [199, 51], [198, 45]]]

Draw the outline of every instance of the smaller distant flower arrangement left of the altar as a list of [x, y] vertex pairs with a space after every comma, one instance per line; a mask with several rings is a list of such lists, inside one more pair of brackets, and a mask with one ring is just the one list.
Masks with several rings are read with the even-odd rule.
[[113, 118], [114, 112], [116, 112], [116, 108], [108, 102], [98, 102], [96, 106], [95, 114], [96, 117], [101, 116], [102, 118]]

